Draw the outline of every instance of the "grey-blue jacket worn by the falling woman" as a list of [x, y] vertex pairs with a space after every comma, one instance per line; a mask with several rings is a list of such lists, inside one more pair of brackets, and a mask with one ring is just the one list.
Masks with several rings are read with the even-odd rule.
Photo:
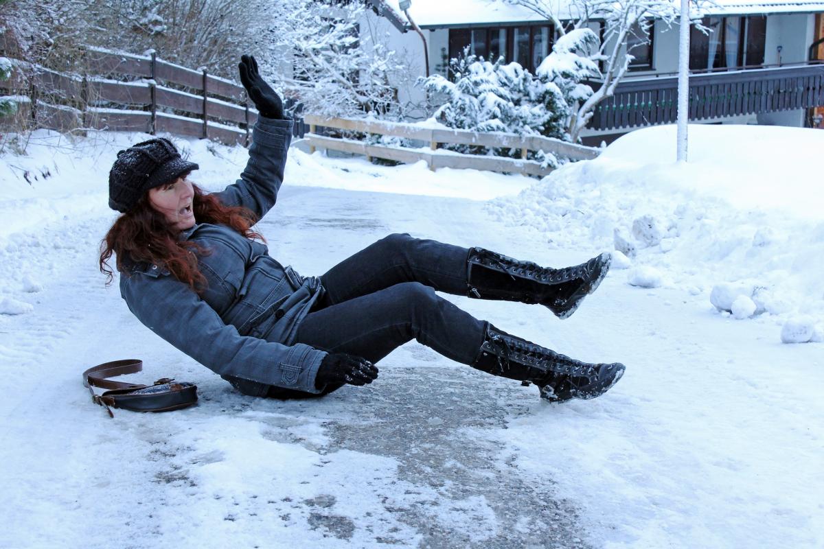
[[[264, 216], [277, 200], [291, 140], [291, 120], [260, 117], [241, 179], [216, 196]], [[200, 223], [180, 238], [208, 250], [198, 256], [206, 289], [198, 295], [162, 265], [138, 263], [120, 276], [132, 313], [243, 393], [262, 396], [269, 385], [320, 393], [315, 377], [326, 353], [295, 337], [321, 281], [283, 267], [265, 244], [227, 226]]]

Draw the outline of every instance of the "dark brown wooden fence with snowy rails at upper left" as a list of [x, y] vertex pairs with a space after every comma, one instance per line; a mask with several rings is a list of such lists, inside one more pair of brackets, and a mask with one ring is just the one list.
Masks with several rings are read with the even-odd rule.
[[155, 54], [88, 48], [85, 61], [94, 76], [16, 62], [11, 79], [0, 87], [30, 97], [30, 103], [21, 103], [22, 115], [40, 128], [169, 132], [227, 144], [249, 140], [257, 111], [246, 102], [246, 90], [232, 81]]

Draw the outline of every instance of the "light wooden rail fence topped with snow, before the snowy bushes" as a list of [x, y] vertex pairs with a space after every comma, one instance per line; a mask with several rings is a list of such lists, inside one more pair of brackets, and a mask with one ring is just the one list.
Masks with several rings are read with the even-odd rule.
[[[407, 164], [425, 161], [431, 170], [437, 168], [471, 168], [506, 173], [545, 175], [549, 174], [552, 168], [542, 167], [539, 162], [527, 160], [527, 151], [551, 152], [559, 158], [573, 161], [589, 160], [600, 153], [600, 149], [597, 148], [583, 147], [582, 145], [550, 137], [518, 136], [513, 133], [477, 133], [466, 130], [426, 128], [417, 124], [372, 120], [326, 119], [311, 114], [307, 114], [305, 120], [309, 124], [309, 133], [306, 134], [306, 138], [312, 149], [321, 147]], [[422, 148], [386, 147], [342, 137], [326, 137], [318, 133], [317, 128], [319, 127], [405, 137], [428, 144], [428, 149], [425, 145]], [[438, 149], [438, 143], [513, 148], [521, 151], [522, 158], [461, 154], [455, 151]]]

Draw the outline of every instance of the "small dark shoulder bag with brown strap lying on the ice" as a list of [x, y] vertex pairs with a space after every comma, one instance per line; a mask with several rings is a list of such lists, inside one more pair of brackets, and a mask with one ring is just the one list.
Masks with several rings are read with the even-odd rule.
[[[111, 408], [125, 408], [134, 412], [166, 412], [191, 406], [198, 401], [197, 385], [175, 383], [174, 379], [158, 379], [153, 385], [129, 384], [111, 381], [118, 375], [134, 374], [143, 370], [143, 361], [126, 359], [105, 362], [83, 372], [83, 385], [91, 393], [91, 401], [105, 407], [110, 417]], [[109, 389], [96, 394], [91, 387]]]

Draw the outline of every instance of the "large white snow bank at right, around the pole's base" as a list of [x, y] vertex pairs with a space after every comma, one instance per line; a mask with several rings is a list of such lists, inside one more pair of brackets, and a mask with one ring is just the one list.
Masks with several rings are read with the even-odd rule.
[[619, 250], [635, 286], [664, 280], [737, 319], [783, 325], [806, 315], [820, 325], [824, 193], [815, 174], [824, 132], [692, 125], [690, 160], [680, 165], [675, 134], [629, 133], [490, 212], [541, 231], [552, 247]]

